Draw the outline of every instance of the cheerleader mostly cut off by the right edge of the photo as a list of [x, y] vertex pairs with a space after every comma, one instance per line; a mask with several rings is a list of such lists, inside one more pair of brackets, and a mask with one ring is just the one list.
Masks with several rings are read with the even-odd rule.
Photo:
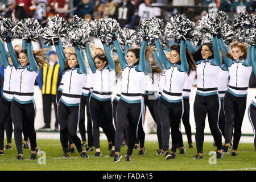
[[[256, 76], [256, 59], [255, 59], [255, 46], [251, 46], [251, 66], [253, 67], [254, 75]], [[249, 107], [248, 107], [248, 116], [251, 123], [251, 126], [253, 127], [253, 133], [254, 133], [254, 148], [256, 151], [256, 96], [254, 97], [253, 101], [251, 101]]]

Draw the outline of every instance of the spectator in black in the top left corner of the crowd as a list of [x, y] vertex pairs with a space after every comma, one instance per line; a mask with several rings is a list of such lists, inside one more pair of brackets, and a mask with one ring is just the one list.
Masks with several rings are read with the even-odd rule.
[[14, 18], [17, 21], [27, 18], [27, 11], [23, 6], [18, 6], [15, 0], [8, 0], [6, 5], [9, 7], [6, 18]]

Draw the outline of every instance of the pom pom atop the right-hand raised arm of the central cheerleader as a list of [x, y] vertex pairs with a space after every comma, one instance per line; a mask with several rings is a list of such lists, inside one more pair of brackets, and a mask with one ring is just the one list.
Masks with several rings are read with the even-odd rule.
[[147, 35], [149, 41], [156, 40], [161, 36], [163, 20], [159, 18], [143, 19], [139, 22], [138, 34], [140, 36]]

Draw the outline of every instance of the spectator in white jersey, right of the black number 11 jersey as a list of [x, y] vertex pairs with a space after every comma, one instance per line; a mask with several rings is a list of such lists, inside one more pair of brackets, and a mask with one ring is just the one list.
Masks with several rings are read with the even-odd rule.
[[138, 16], [142, 19], [148, 19], [151, 17], [160, 18], [161, 9], [159, 7], [152, 7], [155, 3], [152, 3], [154, 0], [144, 0], [141, 5], [139, 5]]

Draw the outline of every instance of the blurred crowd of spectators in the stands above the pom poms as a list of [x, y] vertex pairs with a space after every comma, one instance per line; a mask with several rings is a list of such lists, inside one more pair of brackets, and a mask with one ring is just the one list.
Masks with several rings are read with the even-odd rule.
[[121, 27], [135, 28], [144, 18], [164, 19], [165, 11], [185, 13], [196, 20], [212, 10], [255, 13], [256, 0], [0, 0], [1, 16], [16, 20], [34, 17], [42, 26], [48, 18], [60, 14], [67, 20], [73, 15], [86, 21], [115, 18]]

